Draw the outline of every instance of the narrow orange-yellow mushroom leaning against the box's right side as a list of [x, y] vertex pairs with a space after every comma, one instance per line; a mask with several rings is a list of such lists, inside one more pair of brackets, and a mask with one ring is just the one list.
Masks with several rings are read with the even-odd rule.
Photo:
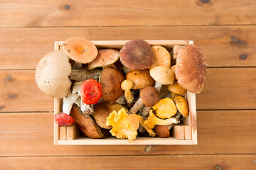
[[183, 98], [183, 96], [173, 95], [172, 96], [174, 103], [176, 104], [176, 107], [178, 111], [183, 115], [183, 117], [188, 116], [188, 101], [186, 101], [186, 98]]

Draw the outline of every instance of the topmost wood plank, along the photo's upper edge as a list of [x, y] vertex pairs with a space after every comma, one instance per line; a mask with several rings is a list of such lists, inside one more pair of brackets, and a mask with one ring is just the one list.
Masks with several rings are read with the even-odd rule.
[[255, 8], [254, 0], [5, 0], [0, 21], [1, 27], [240, 25], [256, 23]]

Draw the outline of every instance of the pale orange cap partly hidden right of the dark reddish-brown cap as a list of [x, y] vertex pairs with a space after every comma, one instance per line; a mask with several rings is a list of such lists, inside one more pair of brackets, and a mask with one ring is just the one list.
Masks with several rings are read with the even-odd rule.
[[152, 46], [152, 50], [154, 51], [154, 63], [149, 67], [149, 69], [162, 65], [165, 67], [171, 67], [171, 55], [165, 47], [160, 45]]

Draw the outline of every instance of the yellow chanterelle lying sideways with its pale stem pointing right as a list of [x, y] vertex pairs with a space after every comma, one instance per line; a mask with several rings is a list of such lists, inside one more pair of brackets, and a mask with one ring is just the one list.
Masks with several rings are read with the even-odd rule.
[[156, 115], [154, 115], [153, 110], [149, 111], [149, 117], [144, 121], [144, 124], [151, 129], [153, 129], [155, 125], [169, 125], [172, 123], [178, 124], [178, 120], [176, 120], [176, 118], [169, 118], [164, 120], [157, 118]]

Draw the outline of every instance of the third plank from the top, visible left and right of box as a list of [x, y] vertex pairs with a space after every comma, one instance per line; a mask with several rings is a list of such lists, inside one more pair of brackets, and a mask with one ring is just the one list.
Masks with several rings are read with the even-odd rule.
[[[255, 75], [256, 68], [208, 68], [197, 109], [255, 109]], [[0, 71], [0, 96], [0, 112], [53, 111], [53, 98], [38, 89], [34, 70]]]

